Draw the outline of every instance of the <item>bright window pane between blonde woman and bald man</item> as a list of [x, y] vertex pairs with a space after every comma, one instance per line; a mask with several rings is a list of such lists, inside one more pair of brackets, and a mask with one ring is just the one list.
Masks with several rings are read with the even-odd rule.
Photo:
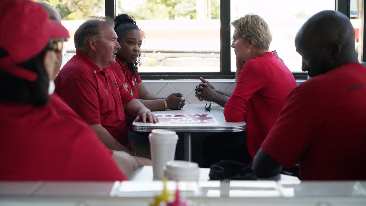
[[[295, 49], [295, 36], [310, 16], [322, 10], [335, 10], [335, 0], [231, 0], [231, 21], [249, 13], [264, 18], [272, 31], [270, 51], [277, 54], [292, 72], [301, 71], [301, 56]], [[231, 29], [231, 36], [234, 29]], [[231, 50], [231, 71], [235, 72], [235, 54]]]

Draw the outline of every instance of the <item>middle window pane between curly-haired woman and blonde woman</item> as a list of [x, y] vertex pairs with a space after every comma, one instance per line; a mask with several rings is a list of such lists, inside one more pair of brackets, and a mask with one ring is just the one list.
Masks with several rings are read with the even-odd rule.
[[140, 73], [220, 72], [219, 0], [116, 0], [145, 34]]

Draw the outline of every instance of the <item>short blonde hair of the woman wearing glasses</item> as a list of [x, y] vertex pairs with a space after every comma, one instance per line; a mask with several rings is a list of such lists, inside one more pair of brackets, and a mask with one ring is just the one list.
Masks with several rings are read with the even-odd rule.
[[231, 22], [231, 25], [238, 30], [244, 39], [251, 41], [258, 48], [269, 49], [272, 34], [268, 24], [260, 16], [247, 14]]

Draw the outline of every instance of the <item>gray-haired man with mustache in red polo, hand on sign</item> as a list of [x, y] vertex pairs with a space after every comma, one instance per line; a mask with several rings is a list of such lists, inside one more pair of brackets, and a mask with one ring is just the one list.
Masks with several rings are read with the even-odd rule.
[[135, 121], [158, 119], [131, 96], [109, 66], [115, 63], [120, 48], [113, 26], [113, 19], [99, 18], [76, 30], [76, 54], [56, 76], [56, 92], [108, 148], [135, 155], [127, 137], [125, 113]]

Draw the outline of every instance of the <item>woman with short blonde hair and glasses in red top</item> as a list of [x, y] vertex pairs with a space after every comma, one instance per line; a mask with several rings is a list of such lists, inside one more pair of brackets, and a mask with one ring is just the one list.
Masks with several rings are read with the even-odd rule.
[[202, 143], [205, 166], [222, 159], [250, 163], [275, 123], [288, 93], [296, 87], [291, 71], [274, 52], [269, 52], [272, 34], [264, 19], [247, 14], [231, 25], [234, 27], [231, 47], [236, 58], [234, 92], [228, 94], [214, 89], [203, 78], [195, 90], [199, 100], [224, 107], [227, 122], [246, 121], [246, 139], [245, 134], [235, 133], [206, 138]]

